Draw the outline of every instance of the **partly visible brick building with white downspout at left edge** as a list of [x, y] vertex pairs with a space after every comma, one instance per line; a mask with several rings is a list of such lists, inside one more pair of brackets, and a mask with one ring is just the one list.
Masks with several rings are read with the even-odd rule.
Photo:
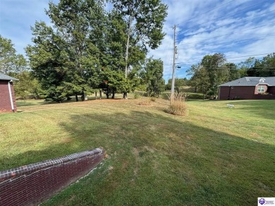
[[0, 112], [16, 112], [16, 96], [13, 80], [18, 80], [0, 72]]

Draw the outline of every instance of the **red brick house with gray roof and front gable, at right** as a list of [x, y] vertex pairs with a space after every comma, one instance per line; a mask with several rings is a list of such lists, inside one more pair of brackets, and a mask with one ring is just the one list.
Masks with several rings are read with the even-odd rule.
[[275, 99], [275, 77], [243, 77], [221, 84], [219, 99]]

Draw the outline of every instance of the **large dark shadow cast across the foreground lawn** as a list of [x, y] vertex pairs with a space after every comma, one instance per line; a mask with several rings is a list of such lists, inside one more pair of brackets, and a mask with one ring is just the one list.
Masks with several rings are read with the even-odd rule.
[[71, 115], [60, 126], [69, 141], [21, 154], [26, 164], [97, 147], [109, 158], [44, 205], [252, 205], [275, 194], [268, 144], [154, 112]]

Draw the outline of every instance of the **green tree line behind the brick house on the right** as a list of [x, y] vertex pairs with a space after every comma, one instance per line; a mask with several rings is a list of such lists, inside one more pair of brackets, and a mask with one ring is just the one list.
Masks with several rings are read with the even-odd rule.
[[270, 53], [262, 60], [254, 57], [235, 64], [228, 63], [223, 53], [215, 53], [202, 58], [200, 63], [187, 70], [191, 75], [188, 82], [195, 92], [215, 98], [219, 85], [241, 77], [275, 77], [275, 53]]

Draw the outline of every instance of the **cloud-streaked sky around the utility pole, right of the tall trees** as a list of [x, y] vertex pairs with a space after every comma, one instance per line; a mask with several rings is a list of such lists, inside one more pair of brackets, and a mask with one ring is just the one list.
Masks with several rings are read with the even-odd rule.
[[[227, 1], [228, 2], [228, 1]], [[250, 56], [275, 51], [275, 12], [271, 1], [166, 1], [169, 5], [169, 15], [165, 24], [167, 36], [163, 44], [170, 48], [173, 57], [173, 25], [178, 25], [177, 42], [178, 59], [182, 63], [178, 76], [184, 77], [190, 64], [199, 62], [203, 56], [213, 53], [224, 53], [226, 57]], [[219, 5], [226, 4], [219, 8]], [[216, 8], [206, 13], [211, 8]], [[271, 12], [270, 12], [271, 11]], [[269, 12], [269, 13], [267, 13]], [[264, 13], [267, 13], [264, 15]], [[263, 15], [262, 15], [263, 14]], [[268, 26], [269, 25], [269, 26]], [[184, 34], [184, 35], [183, 35]], [[269, 37], [270, 36], [270, 37]], [[247, 39], [247, 40], [245, 40]], [[160, 46], [156, 51], [150, 51], [154, 58], [164, 60], [164, 77], [171, 78], [171, 58]], [[255, 56], [256, 58], [262, 56]], [[248, 57], [247, 57], [248, 58]], [[173, 58], [172, 58], [173, 59]], [[241, 58], [228, 59], [235, 63]], [[242, 58], [243, 59], [243, 58]], [[246, 59], [246, 58], [245, 58]], [[181, 73], [180, 73], [181, 72]], [[167, 76], [168, 75], [168, 76]]]

